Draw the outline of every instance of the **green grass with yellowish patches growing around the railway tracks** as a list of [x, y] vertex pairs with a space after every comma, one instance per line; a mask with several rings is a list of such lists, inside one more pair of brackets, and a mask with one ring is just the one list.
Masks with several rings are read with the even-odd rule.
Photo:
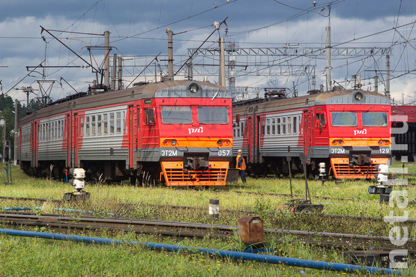
[[[0, 196], [39, 197], [62, 199], [64, 193], [72, 191], [71, 186], [60, 181], [33, 179], [24, 175], [17, 168], [12, 169], [15, 184], [5, 185], [6, 174], [0, 170]], [[388, 216], [390, 211], [403, 215], [403, 211], [388, 204], [380, 205], [378, 195], [368, 195], [368, 182], [345, 180], [341, 184], [327, 181], [309, 180], [312, 196], [329, 196], [354, 198], [357, 201], [317, 199], [313, 203], [324, 204], [324, 213], [344, 215], [367, 215], [375, 217]], [[293, 179], [293, 193], [304, 195], [304, 180]], [[415, 200], [415, 188], [408, 186], [408, 200]], [[390, 225], [372, 222], [333, 222], [322, 220], [320, 215], [294, 215], [284, 211], [283, 207], [290, 197], [280, 195], [250, 195], [241, 191], [257, 193], [290, 193], [288, 179], [252, 179], [248, 184], [229, 185], [218, 188], [134, 188], [128, 184], [98, 185], [87, 184], [86, 190], [91, 193], [88, 202], [22, 202], [11, 199], [0, 199], [0, 207], [6, 206], [44, 206], [37, 213], [51, 213], [53, 208], [76, 208], [83, 211], [94, 211], [98, 216], [103, 213], [115, 213], [125, 217], [153, 220], [174, 220], [214, 224], [236, 225], [241, 214], [225, 213], [225, 209], [263, 211], [274, 213], [254, 213], [259, 215], [265, 228], [304, 229], [309, 231], [345, 231], [345, 233], [362, 233], [388, 235]], [[220, 200], [220, 220], [214, 221], [208, 215], [209, 199]], [[369, 200], [369, 201], [361, 201]], [[162, 206], [155, 206], [162, 205]], [[171, 209], [163, 205], [196, 206], [199, 210]], [[416, 218], [415, 205], [406, 207], [409, 217]], [[80, 215], [80, 213], [75, 213]], [[248, 215], [244, 214], [244, 215]], [[1, 228], [10, 228], [3, 225]], [[40, 229], [46, 231], [47, 229]], [[415, 238], [416, 230], [409, 230], [410, 237]], [[89, 233], [85, 233], [89, 235]], [[93, 236], [97, 236], [94, 234]], [[110, 235], [103, 233], [103, 238]], [[116, 238], [142, 242], [160, 242], [180, 244], [191, 247], [234, 250], [243, 245], [238, 237], [223, 240], [177, 240], [161, 238], [154, 235], [135, 235], [121, 233]], [[325, 250], [298, 242], [291, 236], [279, 240], [267, 238], [271, 253], [293, 258], [347, 262], [338, 250]], [[0, 276], [343, 276], [342, 273], [268, 265], [259, 262], [241, 260], [224, 260], [198, 253], [168, 253], [151, 251], [128, 245], [102, 246], [77, 242], [40, 240], [36, 238], [17, 238], [0, 235]], [[361, 274], [349, 274], [361, 276]]]

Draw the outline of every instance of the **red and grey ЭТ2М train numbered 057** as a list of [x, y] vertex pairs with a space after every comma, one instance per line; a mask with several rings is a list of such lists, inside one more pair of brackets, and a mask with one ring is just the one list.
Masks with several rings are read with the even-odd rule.
[[175, 80], [67, 98], [22, 118], [17, 157], [31, 175], [225, 185], [232, 98], [209, 82]]

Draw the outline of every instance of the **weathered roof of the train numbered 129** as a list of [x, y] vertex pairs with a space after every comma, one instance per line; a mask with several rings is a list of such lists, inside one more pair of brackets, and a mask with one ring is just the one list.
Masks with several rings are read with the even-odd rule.
[[[361, 100], [355, 96], [362, 94]], [[381, 93], [374, 91], [362, 91], [359, 89], [345, 89], [336, 91], [325, 91], [307, 96], [293, 98], [254, 98], [233, 103], [234, 113], [242, 112], [248, 107], [256, 107], [258, 112], [280, 111], [286, 109], [301, 109], [315, 105], [391, 105], [390, 100]]]

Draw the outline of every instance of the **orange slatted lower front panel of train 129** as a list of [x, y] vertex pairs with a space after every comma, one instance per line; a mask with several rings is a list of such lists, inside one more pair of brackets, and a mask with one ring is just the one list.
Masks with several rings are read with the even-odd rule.
[[388, 158], [371, 158], [369, 165], [349, 166], [348, 158], [331, 158], [331, 167], [335, 178], [371, 179], [377, 173], [375, 168], [379, 164], [388, 164]]

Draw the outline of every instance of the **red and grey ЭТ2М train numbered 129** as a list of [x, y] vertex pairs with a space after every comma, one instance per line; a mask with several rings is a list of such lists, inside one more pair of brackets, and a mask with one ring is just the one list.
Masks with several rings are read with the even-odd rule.
[[[270, 93], [268, 93], [270, 94]], [[281, 93], [277, 93], [281, 96]], [[390, 100], [361, 89], [234, 102], [234, 157], [254, 175], [302, 172], [325, 163], [335, 178], [370, 179], [391, 155]]]

